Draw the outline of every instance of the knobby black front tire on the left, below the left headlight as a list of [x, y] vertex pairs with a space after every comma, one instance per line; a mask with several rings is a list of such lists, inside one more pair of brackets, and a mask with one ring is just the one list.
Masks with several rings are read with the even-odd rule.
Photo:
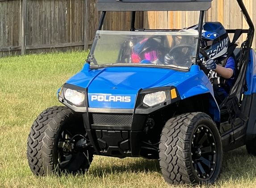
[[35, 175], [52, 173], [77, 173], [88, 170], [92, 151], [64, 153], [58, 147], [61, 139], [85, 135], [81, 114], [66, 106], [54, 106], [44, 110], [34, 121], [28, 141], [27, 159]]

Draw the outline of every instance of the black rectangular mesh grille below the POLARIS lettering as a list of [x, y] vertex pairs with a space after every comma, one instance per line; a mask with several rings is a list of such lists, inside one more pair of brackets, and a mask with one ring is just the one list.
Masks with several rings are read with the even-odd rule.
[[132, 114], [92, 113], [93, 125], [131, 125]]

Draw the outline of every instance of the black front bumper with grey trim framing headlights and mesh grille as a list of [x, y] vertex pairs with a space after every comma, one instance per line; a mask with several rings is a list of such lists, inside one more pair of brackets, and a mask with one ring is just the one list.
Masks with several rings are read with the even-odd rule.
[[[83, 92], [86, 96], [84, 102], [74, 106], [65, 100], [64, 92], [67, 88]], [[151, 92], [161, 89], [163, 90], [163, 88], [154, 88]], [[164, 87], [164, 89], [173, 88]], [[97, 155], [138, 157], [141, 156], [148, 115], [180, 100], [179, 95], [174, 100], [168, 96], [165, 102], [147, 107], [142, 104], [142, 101], [143, 96], [149, 92], [150, 90], [139, 90], [134, 109], [90, 108], [88, 107], [88, 89], [70, 84], [63, 85], [58, 97], [65, 106], [75, 112], [83, 113], [84, 127]], [[177, 91], [176, 93], [178, 94]]]

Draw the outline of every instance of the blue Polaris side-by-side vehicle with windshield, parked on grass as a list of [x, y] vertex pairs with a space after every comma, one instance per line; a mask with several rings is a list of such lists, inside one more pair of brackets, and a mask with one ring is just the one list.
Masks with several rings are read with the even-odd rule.
[[[171, 184], [213, 183], [222, 151], [256, 155], [256, 53], [249, 29], [203, 22], [212, 0], [99, 0], [102, 11], [84, 68], [34, 121], [27, 142], [35, 175], [86, 172], [93, 155], [159, 159]], [[235, 1], [235, 0], [234, 0]], [[130, 31], [103, 31], [107, 11], [130, 11]], [[200, 11], [186, 29], [137, 29], [136, 11]], [[170, 18], [171, 19], [171, 18]], [[232, 40], [228, 33], [234, 33]], [[242, 33], [246, 41], [237, 47]], [[204, 62], [235, 60], [230, 92], [217, 103]]]

